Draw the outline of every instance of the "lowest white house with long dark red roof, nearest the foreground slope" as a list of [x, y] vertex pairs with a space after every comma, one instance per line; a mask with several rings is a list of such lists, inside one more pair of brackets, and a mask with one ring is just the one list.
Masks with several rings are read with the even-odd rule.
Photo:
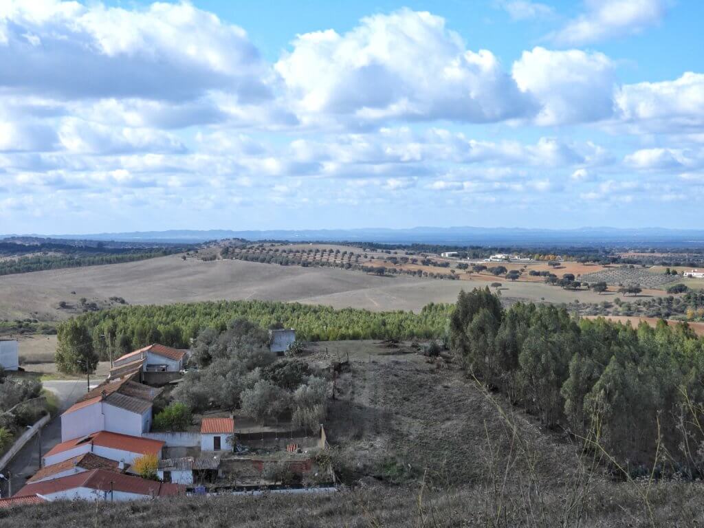
[[15, 497], [41, 496], [46, 501], [135, 501], [184, 494], [185, 486], [106, 470], [90, 470], [58, 479], [27, 484]]

